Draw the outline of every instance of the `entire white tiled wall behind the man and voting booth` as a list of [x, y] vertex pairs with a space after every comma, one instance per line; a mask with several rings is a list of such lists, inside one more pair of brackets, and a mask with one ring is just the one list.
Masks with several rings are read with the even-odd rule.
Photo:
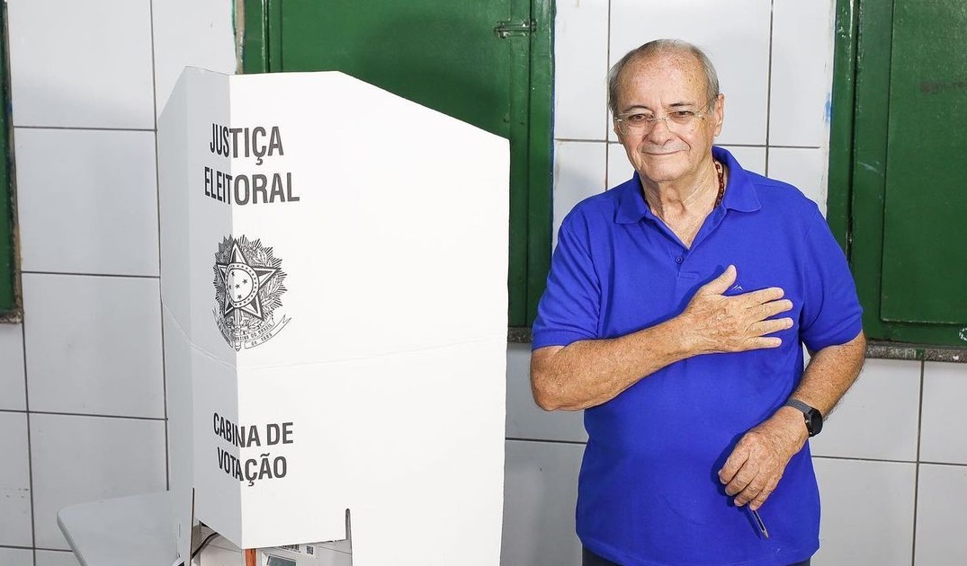
[[[57, 509], [166, 485], [155, 117], [183, 65], [234, 71], [231, 4], [7, 2], [25, 321], [0, 325], [0, 565], [76, 566]], [[720, 143], [824, 206], [833, 5], [559, 0], [555, 226], [630, 176], [604, 73], [659, 37], [717, 64]], [[579, 414], [534, 406], [528, 361], [509, 346], [502, 566], [577, 566], [586, 437]], [[965, 398], [967, 366], [867, 362], [813, 442], [813, 564], [967, 563]]]

